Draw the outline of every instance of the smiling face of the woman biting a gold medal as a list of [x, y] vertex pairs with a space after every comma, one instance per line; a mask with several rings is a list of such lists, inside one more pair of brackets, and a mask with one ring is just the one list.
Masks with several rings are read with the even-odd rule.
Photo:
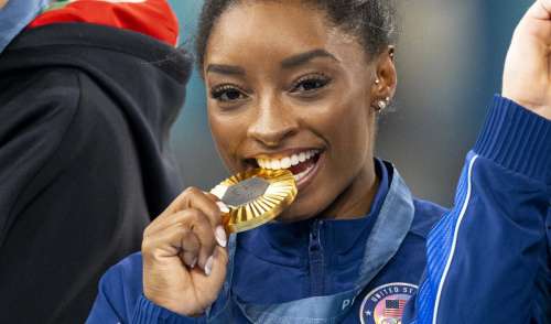
[[377, 62], [300, 1], [246, 1], [217, 21], [203, 71], [213, 136], [231, 172], [295, 174], [280, 220], [367, 212], [355, 207], [375, 184]]

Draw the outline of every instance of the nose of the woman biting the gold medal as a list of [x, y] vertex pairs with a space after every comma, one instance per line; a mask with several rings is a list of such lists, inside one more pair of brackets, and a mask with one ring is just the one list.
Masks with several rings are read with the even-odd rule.
[[252, 138], [267, 147], [278, 147], [287, 138], [296, 133], [299, 127], [293, 115], [281, 105], [262, 105], [255, 121], [247, 131]]

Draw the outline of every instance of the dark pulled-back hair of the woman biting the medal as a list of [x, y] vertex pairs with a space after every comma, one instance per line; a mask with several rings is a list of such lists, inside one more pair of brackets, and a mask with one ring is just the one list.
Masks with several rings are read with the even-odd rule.
[[[250, 0], [205, 0], [196, 41], [197, 63], [201, 68], [208, 37], [216, 21], [224, 11], [242, 1]], [[328, 21], [355, 36], [366, 48], [367, 54], [379, 54], [396, 43], [398, 33], [393, 0], [303, 0], [303, 2], [325, 12]]]

